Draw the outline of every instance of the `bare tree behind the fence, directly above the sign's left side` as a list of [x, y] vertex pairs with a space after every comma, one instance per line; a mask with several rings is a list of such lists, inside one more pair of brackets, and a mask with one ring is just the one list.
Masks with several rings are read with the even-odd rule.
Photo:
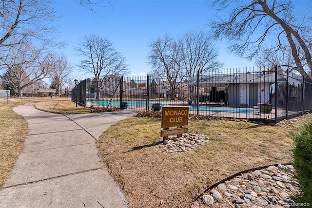
[[154, 74], [167, 80], [170, 86], [171, 99], [185, 75], [183, 72], [182, 45], [169, 35], [152, 40], [150, 53], [147, 57]]

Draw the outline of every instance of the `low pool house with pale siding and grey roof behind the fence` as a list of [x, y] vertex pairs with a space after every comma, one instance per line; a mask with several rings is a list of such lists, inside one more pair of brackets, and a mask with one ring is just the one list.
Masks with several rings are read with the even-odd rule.
[[[199, 95], [207, 96], [207, 101], [212, 103], [224, 103], [236, 107], [273, 103], [275, 83], [273, 72], [202, 75], [198, 80]], [[197, 76], [193, 76], [188, 84], [196, 88]]]

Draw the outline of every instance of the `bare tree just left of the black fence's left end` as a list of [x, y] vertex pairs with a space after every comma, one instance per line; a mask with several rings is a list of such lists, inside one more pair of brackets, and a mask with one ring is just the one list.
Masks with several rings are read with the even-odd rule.
[[53, 54], [50, 64], [50, 78], [57, 90], [57, 95], [60, 95], [62, 87], [67, 81], [67, 78], [72, 72], [72, 66], [68, 62], [64, 54]]

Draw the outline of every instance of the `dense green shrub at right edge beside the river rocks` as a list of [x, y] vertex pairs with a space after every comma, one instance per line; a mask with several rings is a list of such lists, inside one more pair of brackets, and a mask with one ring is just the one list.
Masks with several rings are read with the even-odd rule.
[[293, 167], [299, 182], [301, 195], [294, 196], [295, 202], [309, 202], [312, 205], [312, 115], [300, 126], [300, 132], [293, 134]]

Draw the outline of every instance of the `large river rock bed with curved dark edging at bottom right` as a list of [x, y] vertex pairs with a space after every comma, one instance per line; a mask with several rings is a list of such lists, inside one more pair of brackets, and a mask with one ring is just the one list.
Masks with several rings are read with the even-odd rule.
[[[290, 208], [300, 193], [292, 165], [242, 173], [207, 190], [191, 208]], [[201, 204], [201, 205], [200, 205]]]

